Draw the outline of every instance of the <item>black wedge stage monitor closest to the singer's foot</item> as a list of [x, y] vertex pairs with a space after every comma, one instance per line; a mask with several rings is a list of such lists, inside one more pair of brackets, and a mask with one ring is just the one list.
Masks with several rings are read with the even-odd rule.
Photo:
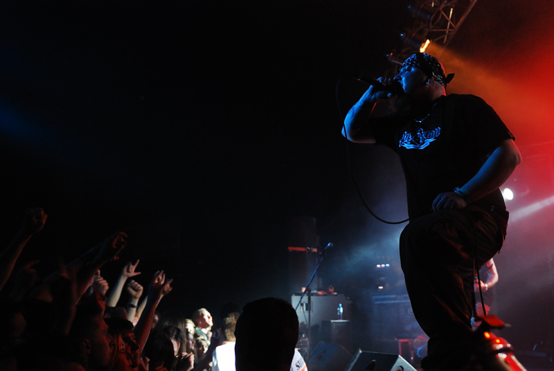
[[[310, 368], [308, 368], [310, 370]], [[415, 371], [412, 365], [398, 354], [365, 352], [358, 350], [345, 371]]]

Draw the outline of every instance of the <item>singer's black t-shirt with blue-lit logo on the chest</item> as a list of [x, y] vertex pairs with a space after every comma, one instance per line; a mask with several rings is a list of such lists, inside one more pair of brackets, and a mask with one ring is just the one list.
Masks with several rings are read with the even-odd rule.
[[[514, 138], [494, 109], [472, 95], [439, 98], [420, 122], [393, 116], [370, 123], [377, 143], [400, 156], [411, 218], [431, 212], [438, 194], [467, 183], [502, 141]], [[474, 204], [506, 209], [500, 190]]]

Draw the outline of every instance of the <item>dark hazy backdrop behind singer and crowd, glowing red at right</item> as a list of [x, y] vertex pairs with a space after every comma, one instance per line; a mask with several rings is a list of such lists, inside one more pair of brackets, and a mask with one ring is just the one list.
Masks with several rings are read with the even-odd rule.
[[[349, 75], [390, 67], [409, 3], [3, 2], [3, 242], [24, 208], [44, 208], [20, 262], [40, 257], [46, 274], [57, 255], [123, 230], [128, 247], [102, 270], [110, 282], [141, 258], [141, 284], [157, 269], [175, 278], [162, 310], [217, 314], [229, 300], [289, 297], [289, 221], [313, 217], [321, 245], [334, 244], [323, 287], [355, 301], [375, 290], [370, 267], [397, 269], [402, 225], [364, 210], [348, 153], [385, 219], [406, 217], [404, 180], [390, 150], [347, 152], [341, 116], [366, 89]], [[548, 0], [478, 1], [440, 52], [456, 73], [449, 92], [485, 98], [524, 153], [508, 182], [527, 198], [508, 206], [497, 308], [513, 325], [503, 335], [528, 350], [549, 336], [551, 206], [514, 210], [554, 194], [553, 15]]]

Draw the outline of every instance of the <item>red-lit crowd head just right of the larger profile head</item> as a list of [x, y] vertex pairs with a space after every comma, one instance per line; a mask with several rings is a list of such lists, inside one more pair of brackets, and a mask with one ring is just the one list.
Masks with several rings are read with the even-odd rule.
[[112, 371], [129, 371], [140, 363], [139, 344], [136, 343], [133, 324], [121, 318], [106, 318], [108, 332], [116, 342]]

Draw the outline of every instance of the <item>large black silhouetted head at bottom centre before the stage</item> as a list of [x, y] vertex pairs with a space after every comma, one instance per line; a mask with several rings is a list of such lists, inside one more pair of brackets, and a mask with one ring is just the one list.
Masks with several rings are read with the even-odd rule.
[[235, 337], [237, 371], [288, 371], [298, 341], [298, 316], [285, 300], [255, 300], [242, 309]]

